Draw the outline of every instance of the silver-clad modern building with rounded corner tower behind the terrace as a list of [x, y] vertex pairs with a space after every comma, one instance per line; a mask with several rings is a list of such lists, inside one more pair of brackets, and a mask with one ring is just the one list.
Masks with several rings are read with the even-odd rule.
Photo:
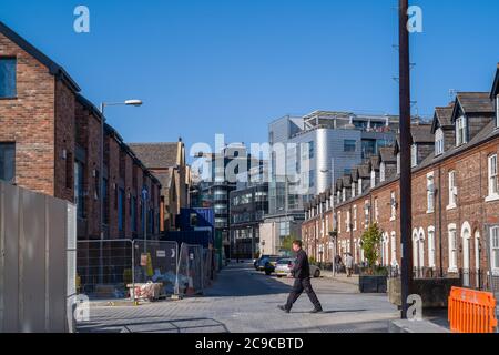
[[[394, 143], [398, 116], [315, 111], [268, 125], [271, 181], [265, 239], [278, 253], [284, 237], [301, 237], [304, 204], [379, 148]], [[261, 245], [261, 247], [264, 245]]]

